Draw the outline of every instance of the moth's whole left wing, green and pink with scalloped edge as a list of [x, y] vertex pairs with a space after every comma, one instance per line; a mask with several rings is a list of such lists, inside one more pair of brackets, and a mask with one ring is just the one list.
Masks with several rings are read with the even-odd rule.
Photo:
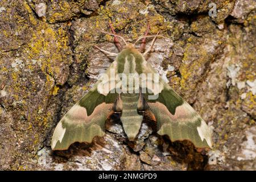
[[[92, 142], [96, 136], [103, 137], [105, 121], [112, 114], [112, 108], [118, 97], [110, 93], [112, 88], [110, 72], [116, 73], [115, 61], [92, 89], [77, 102], [57, 124], [52, 136], [52, 150], [67, 150], [75, 142]], [[107, 80], [108, 77], [108, 80]]]

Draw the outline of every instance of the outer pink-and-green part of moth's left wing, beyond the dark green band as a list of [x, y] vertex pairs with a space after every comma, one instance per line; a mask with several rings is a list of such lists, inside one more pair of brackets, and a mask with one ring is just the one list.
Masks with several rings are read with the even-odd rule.
[[73, 106], [57, 124], [52, 136], [52, 150], [67, 150], [75, 142], [91, 143], [93, 138], [105, 135], [105, 121], [112, 104], [102, 103], [87, 115], [85, 107]]

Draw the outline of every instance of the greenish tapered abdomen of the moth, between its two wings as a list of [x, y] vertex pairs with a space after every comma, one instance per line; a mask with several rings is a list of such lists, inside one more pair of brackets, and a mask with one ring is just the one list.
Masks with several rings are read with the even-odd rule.
[[129, 140], [134, 140], [141, 129], [143, 119], [143, 115], [139, 115], [137, 111], [139, 94], [121, 94], [121, 100], [123, 109], [120, 119], [123, 129]]

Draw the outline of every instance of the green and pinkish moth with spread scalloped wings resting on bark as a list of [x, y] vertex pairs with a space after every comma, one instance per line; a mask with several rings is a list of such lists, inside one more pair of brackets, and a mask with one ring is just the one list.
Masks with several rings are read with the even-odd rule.
[[[112, 24], [110, 28], [112, 33], [104, 33], [114, 36], [119, 53], [96, 46], [115, 59], [92, 89], [57, 124], [52, 136], [52, 150], [67, 150], [72, 143], [91, 143], [94, 137], [103, 137], [106, 119], [113, 113], [120, 113], [123, 130], [130, 141], [136, 139], [143, 116], [147, 114], [156, 123], [157, 133], [168, 135], [172, 142], [189, 140], [195, 147], [212, 147], [212, 131], [205, 121], [145, 59], [159, 35], [148, 36], [148, 26], [145, 35], [135, 42], [141, 40], [141, 47], [137, 49], [135, 43], [126, 43], [115, 34]], [[146, 49], [148, 37], [154, 39]], [[118, 38], [123, 40], [125, 47]]]

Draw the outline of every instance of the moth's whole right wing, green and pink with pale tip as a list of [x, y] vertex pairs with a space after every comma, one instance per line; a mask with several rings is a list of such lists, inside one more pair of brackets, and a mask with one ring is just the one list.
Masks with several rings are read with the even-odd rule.
[[[156, 73], [148, 63], [144, 72]], [[148, 111], [155, 116], [158, 134], [168, 135], [172, 141], [190, 140], [200, 148], [212, 147], [210, 127], [162, 78], [159, 78], [158, 97], [150, 100], [149, 93], [143, 95]]]

